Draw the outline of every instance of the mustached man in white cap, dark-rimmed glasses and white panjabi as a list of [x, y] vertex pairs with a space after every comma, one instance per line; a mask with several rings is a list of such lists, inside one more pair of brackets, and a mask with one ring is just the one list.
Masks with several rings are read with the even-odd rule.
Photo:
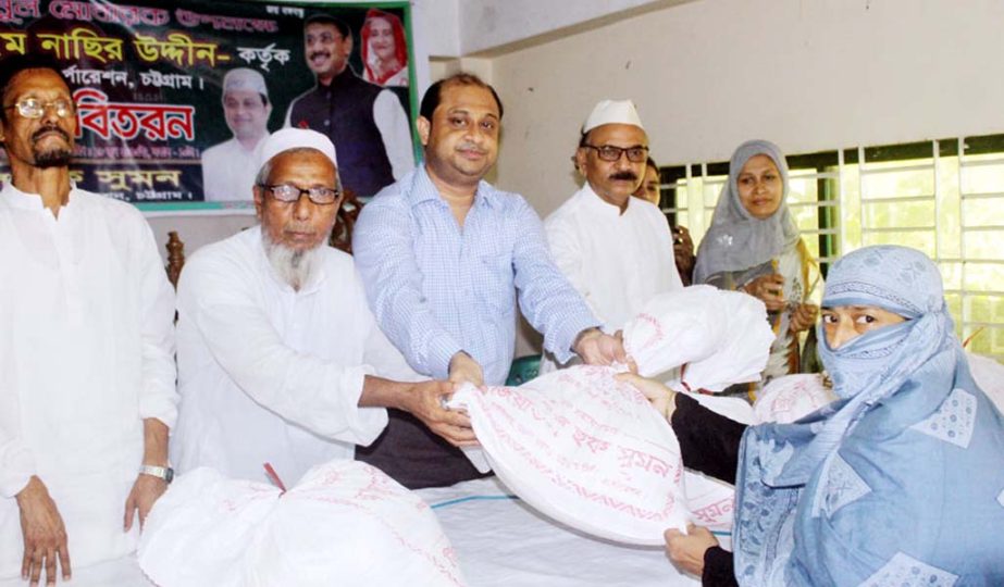
[[[645, 176], [648, 137], [630, 100], [604, 100], [582, 125], [575, 168], [582, 188], [544, 222], [555, 263], [607, 334], [653, 296], [681, 289], [666, 216], [632, 198]], [[542, 372], [555, 369], [545, 354]]]

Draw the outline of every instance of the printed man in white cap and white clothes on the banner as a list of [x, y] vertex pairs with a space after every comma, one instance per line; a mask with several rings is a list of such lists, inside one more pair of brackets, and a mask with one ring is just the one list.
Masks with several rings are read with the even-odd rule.
[[234, 137], [202, 152], [206, 201], [250, 201], [271, 114], [269, 88], [260, 73], [248, 67], [226, 72], [223, 117]]

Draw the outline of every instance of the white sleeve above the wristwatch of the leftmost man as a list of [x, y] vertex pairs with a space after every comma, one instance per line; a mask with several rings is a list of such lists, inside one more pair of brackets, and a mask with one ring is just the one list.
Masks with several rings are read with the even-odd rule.
[[139, 416], [154, 417], [173, 428], [177, 422], [177, 370], [174, 363], [174, 289], [157, 253], [153, 233], [146, 222], [137, 245], [140, 273], [140, 337], [142, 387]]

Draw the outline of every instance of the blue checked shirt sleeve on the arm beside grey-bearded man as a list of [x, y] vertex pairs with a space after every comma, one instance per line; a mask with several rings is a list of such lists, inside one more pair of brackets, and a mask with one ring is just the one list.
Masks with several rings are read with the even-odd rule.
[[438, 324], [422, 294], [406, 204], [376, 198], [363, 208], [352, 251], [370, 308], [387, 338], [419, 373], [448, 377], [449, 361], [462, 347]]

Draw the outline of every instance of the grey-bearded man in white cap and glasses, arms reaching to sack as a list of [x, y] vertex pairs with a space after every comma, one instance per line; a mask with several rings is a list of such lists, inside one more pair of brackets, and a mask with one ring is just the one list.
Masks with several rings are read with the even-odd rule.
[[451, 384], [418, 382], [376, 326], [352, 258], [327, 246], [342, 203], [335, 148], [285, 128], [262, 145], [260, 224], [202, 248], [178, 283], [178, 472], [211, 466], [287, 485], [311, 466], [351, 459], [410, 412], [457, 444], [470, 421], [441, 405]]

